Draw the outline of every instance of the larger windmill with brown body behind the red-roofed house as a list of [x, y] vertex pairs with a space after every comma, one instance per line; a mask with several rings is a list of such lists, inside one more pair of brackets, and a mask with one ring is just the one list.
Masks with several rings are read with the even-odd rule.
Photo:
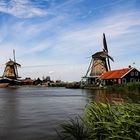
[[110, 60], [114, 61], [108, 53], [106, 37], [103, 33], [103, 51], [96, 52], [92, 55], [85, 78], [87, 78], [90, 83], [95, 82], [97, 77], [111, 70]]

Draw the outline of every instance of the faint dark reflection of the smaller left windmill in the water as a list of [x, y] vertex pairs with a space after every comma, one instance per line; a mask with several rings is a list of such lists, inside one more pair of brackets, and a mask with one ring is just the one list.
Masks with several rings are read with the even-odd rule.
[[1, 104], [1, 127], [0, 127], [0, 138], [15, 139], [15, 129], [19, 123], [18, 121], [18, 100], [14, 94], [14, 89], [8, 89], [5, 93], [3, 104]]

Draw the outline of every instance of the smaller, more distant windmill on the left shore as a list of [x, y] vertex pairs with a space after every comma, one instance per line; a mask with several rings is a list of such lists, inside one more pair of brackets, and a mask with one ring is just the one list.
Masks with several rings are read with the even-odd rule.
[[2, 77], [3, 78], [8, 78], [8, 79], [11, 79], [11, 80], [17, 80], [18, 78], [20, 78], [18, 76], [17, 67], [20, 67], [21, 65], [16, 62], [15, 50], [13, 50], [13, 56], [14, 56], [14, 60], [10, 59], [6, 63], [6, 67], [5, 67], [5, 70], [4, 70], [4, 73], [3, 73]]

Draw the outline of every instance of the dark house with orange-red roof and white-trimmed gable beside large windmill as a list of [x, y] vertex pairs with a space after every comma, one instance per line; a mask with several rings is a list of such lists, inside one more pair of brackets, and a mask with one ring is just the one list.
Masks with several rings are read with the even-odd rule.
[[140, 72], [136, 68], [123, 68], [104, 73], [99, 77], [103, 85], [140, 82]]

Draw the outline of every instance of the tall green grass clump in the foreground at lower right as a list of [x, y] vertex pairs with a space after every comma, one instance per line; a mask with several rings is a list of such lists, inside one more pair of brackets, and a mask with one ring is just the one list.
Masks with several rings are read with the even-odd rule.
[[61, 125], [63, 140], [136, 140], [140, 139], [139, 104], [90, 103], [83, 118]]

